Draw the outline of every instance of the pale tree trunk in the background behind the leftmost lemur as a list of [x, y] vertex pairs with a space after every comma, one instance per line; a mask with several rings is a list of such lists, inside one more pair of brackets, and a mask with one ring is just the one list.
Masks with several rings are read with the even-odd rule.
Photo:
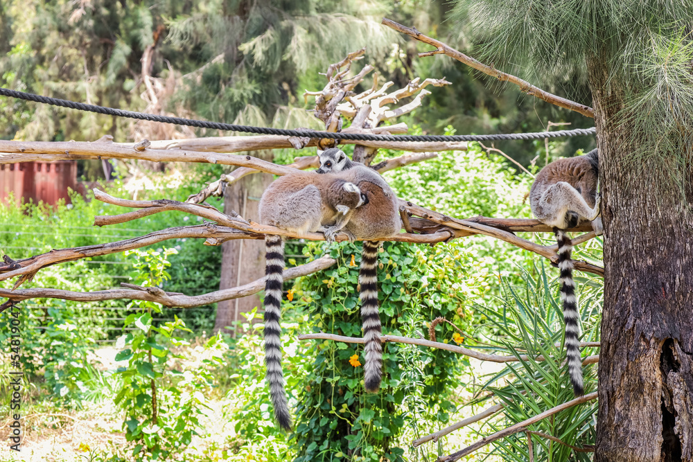
[[[265, 160], [272, 161], [272, 157]], [[272, 175], [255, 173], [227, 186], [224, 192], [224, 210], [234, 210], [247, 220], [259, 221], [260, 197], [270, 183], [272, 183]], [[220, 290], [247, 284], [263, 276], [265, 276], [264, 240], [238, 239], [222, 244]], [[237, 320], [243, 321], [245, 318], [240, 314], [249, 312], [259, 305], [260, 298], [257, 295], [220, 301], [217, 305], [214, 330], [231, 332], [226, 329], [227, 326], [231, 326], [231, 323]]]

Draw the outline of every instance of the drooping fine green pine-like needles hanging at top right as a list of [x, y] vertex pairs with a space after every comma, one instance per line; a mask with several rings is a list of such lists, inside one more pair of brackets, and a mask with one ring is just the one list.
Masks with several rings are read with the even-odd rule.
[[636, 150], [629, 168], [657, 159], [683, 191], [693, 152], [685, 128], [693, 121], [692, 11], [690, 1], [458, 0], [455, 19], [469, 24], [496, 66], [513, 63], [553, 82], [588, 76], [593, 90], [613, 89], [614, 120]]

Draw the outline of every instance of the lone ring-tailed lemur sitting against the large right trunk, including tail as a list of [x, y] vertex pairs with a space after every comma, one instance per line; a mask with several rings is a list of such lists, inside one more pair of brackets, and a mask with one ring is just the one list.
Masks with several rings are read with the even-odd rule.
[[597, 234], [602, 233], [599, 215], [601, 198], [597, 195], [599, 159], [597, 150], [584, 156], [558, 159], [545, 166], [536, 175], [529, 190], [529, 204], [534, 216], [554, 227], [558, 243], [558, 267], [561, 270], [561, 301], [565, 320], [565, 350], [568, 373], [576, 396], [584, 393], [582, 359], [580, 356], [579, 311], [572, 278], [572, 243], [565, 229], [589, 220]]

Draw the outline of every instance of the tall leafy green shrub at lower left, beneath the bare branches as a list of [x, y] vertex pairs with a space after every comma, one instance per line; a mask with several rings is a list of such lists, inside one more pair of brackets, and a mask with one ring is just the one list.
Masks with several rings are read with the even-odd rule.
[[[145, 287], [160, 285], [169, 275], [166, 258], [174, 249], [134, 251], [139, 270], [139, 283]], [[134, 301], [135, 312], [125, 319], [124, 326], [134, 325], [137, 330], [119, 338], [116, 343], [121, 352], [116, 360], [128, 360], [127, 367], [117, 371], [122, 378], [114, 401], [125, 411], [128, 420], [123, 423], [125, 438], [134, 443], [132, 456], [137, 461], [168, 460], [192, 441], [200, 427], [200, 415], [209, 409], [205, 393], [213, 383], [208, 367], [223, 364], [222, 353], [226, 344], [220, 337], [209, 339], [205, 348], [215, 355], [204, 359], [203, 366], [194, 371], [179, 371], [171, 367], [173, 359], [185, 359], [173, 348], [188, 344], [177, 336], [176, 330], [189, 329], [175, 317], [164, 326], [154, 326], [152, 312], [161, 312], [157, 303]], [[128, 348], [125, 348], [128, 347]]]

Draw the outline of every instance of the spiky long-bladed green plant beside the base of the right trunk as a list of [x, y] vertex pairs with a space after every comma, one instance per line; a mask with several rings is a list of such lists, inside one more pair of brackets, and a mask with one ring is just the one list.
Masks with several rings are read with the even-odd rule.
[[[493, 335], [488, 338], [498, 348], [489, 348], [520, 359], [517, 363], [508, 363], [507, 367], [487, 382], [486, 389], [493, 391], [505, 405], [504, 418], [490, 425], [493, 431], [519, 423], [574, 398], [568, 368], [564, 364], [565, 336], [562, 306], [556, 290], [558, 284], [549, 281], [543, 265], [534, 270], [536, 278], [527, 272], [521, 272], [523, 285], [504, 284], [502, 310], [477, 306], [477, 310], [484, 312], [493, 326], [490, 330]], [[581, 341], [599, 341], [599, 321], [604, 297], [602, 280], [576, 280], [583, 330]], [[583, 348], [582, 352], [583, 356], [597, 353], [595, 348]], [[545, 360], [534, 359], [538, 355], [542, 355]], [[597, 388], [597, 377], [592, 369], [593, 366], [584, 366], [586, 393]], [[503, 386], [498, 384], [499, 381], [507, 384]], [[596, 411], [596, 402], [587, 402], [565, 409], [552, 418], [540, 420], [530, 425], [529, 429], [549, 434], [569, 445], [591, 445], [596, 436]], [[526, 461], [530, 459], [526, 438], [524, 433], [503, 438], [495, 443], [494, 453], [500, 454], [502, 460]], [[571, 454], [574, 454], [573, 460], [590, 460], [586, 453], [573, 452], [570, 447], [541, 436], [534, 436], [532, 442], [534, 460], [537, 461], [565, 461]]]

